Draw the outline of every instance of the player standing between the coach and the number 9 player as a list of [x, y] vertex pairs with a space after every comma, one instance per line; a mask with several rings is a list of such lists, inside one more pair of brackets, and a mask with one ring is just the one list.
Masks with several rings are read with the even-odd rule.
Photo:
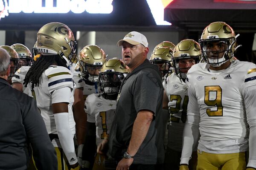
[[[159, 48], [160, 49], [160, 48]], [[165, 156], [166, 169], [178, 170], [182, 150], [182, 134], [186, 122], [186, 110], [189, 101], [188, 85], [185, 83], [189, 68], [199, 62], [201, 49], [198, 42], [186, 39], [180, 41], [174, 48], [172, 55], [172, 73], [163, 82], [163, 108], [170, 111], [170, 125], [168, 127], [168, 145]], [[194, 148], [196, 151], [196, 147]], [[196, 155], [196, 152], [194, 153]], [[190, 170], [196, 169], [196, 156], [189, 165]]]

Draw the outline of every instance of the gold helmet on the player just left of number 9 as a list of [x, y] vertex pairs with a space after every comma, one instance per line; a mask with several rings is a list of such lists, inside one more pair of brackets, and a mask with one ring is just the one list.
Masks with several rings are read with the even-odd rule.
[[173, 67], [175, 69], [175, 73], [177, 77], [180, 79], [186, 79], [186, 73], [180, 71], [181, 69], [188, 70], [190, 67], [187, 68], [180, 68], [179, 60], [180, 59], [194, 59], [191, 62], [198, 63], [201, 58], [201, 49], [198, 42], [191, 39], [186, 39], [180, 41], [174, 48], [172, 62]]

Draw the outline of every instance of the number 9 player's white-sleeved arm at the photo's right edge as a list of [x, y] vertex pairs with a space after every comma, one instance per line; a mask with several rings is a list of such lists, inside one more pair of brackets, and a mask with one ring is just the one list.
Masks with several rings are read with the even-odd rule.
[[256, 67], [250, 69], [244, 79], [242, 95], [246, 110], [249, 133], [249, 161], [247, 167], [256, 168]]

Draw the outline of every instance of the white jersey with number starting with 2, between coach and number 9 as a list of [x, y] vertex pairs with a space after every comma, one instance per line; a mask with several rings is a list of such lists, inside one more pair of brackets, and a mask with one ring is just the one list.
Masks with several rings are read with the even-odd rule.
[[163, 88], [169, 99], [168, 107], [170, 111], [167, 146], [172, 150], [181, 152], [186, 109], [189, 102], [188, 85], [177, 77], [175, 73], [172, 73], [163, 82]]

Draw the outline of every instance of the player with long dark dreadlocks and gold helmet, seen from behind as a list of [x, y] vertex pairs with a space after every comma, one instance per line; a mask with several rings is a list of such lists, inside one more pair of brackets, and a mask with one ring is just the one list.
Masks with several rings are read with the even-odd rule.
[[[75, 121], [73, 74], [68, 69], [76, 55], [73, 32], [63, 23], [48, 23], [37, 34], [41, 53], [24, 79], [32, 91], [58, 157], [58, 169], [79, 169], [73, 137]], [[66, 160], [66, 161], [64, 161]]]

